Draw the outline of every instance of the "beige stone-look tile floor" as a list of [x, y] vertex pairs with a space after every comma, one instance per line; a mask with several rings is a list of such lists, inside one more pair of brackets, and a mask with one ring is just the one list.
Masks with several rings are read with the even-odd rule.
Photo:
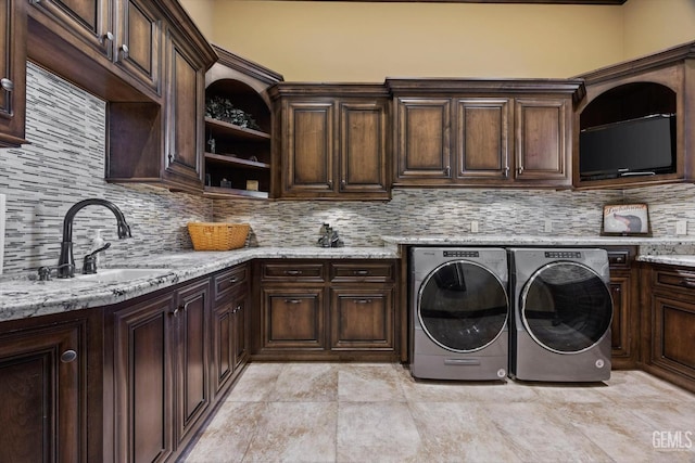
[[695, 395], [640, 371], [558, 385], [251, 363], [185, 461], [695, 462]]

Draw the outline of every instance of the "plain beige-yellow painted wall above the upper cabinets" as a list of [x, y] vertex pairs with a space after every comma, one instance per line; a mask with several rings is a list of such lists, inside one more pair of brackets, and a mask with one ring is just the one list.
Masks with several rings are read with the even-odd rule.
[[569, 77], [695, 40], [695, 0], [180, 1], [208, 40], [290, 81]]

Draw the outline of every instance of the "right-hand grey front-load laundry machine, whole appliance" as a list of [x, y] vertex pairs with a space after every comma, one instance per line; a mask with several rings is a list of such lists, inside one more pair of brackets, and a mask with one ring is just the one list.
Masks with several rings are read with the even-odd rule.
[[510, 376], [525, 381], [610, 378], [610, 297], [604, 249], [509, 250]]

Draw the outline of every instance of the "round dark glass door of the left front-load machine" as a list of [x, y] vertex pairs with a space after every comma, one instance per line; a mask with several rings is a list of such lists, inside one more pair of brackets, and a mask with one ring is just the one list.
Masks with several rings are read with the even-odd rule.
[[500, 336], [508, 306], [505, 285], [490, 270], [475, 262], [452, 261], [427, 276], [417, 313], [430, 339], [445, 349], [469, 352]]

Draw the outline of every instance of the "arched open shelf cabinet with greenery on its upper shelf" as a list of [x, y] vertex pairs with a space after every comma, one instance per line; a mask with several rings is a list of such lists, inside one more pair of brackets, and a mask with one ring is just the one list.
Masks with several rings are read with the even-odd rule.
[[205, 76], [205, 195], [267, 198], [273, 118], [266, 91], [282, 76], [213, 48], [219, 60]]

